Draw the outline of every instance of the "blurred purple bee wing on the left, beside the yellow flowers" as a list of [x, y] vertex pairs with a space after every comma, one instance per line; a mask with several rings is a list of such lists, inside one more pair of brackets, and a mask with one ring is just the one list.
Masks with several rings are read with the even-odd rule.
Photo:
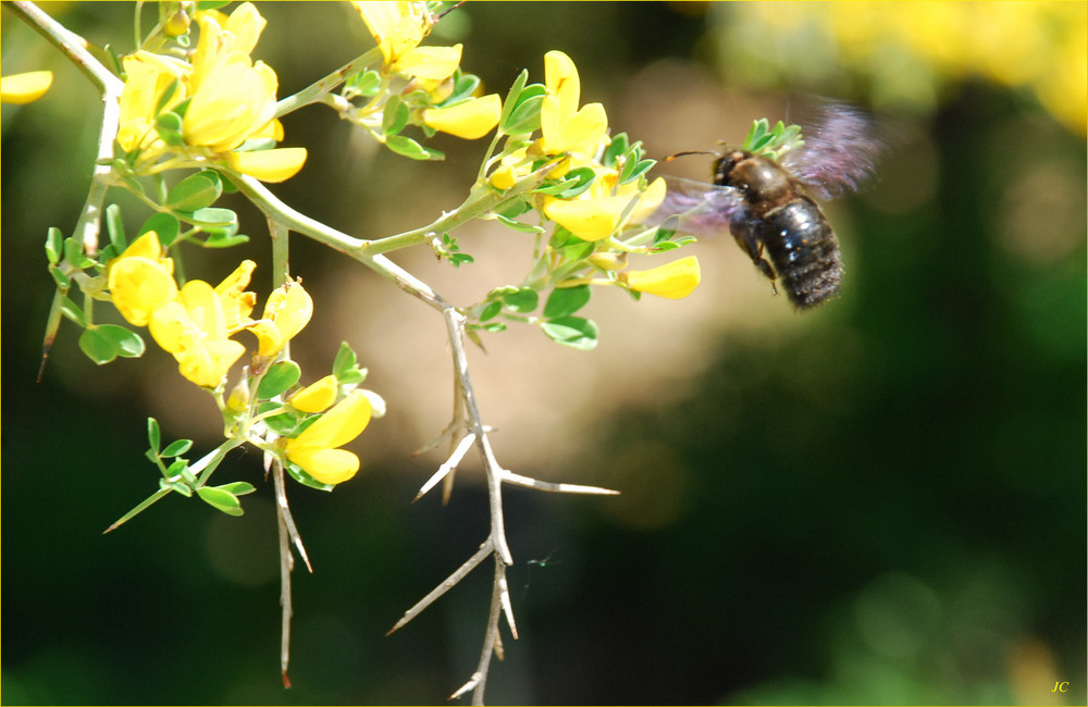
[[666, 176], [668, 191], [665, 200], [650, 219], [647, 225], [676, 227], [693, 236], [717, 236], [729, 233], [729, 222], [744, 209], [740, 191], [733, 187], [717, 186], [682, 177]]

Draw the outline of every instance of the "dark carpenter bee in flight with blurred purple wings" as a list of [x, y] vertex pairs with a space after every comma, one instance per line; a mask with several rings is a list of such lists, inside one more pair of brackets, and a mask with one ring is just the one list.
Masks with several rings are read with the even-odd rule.
[[715, 154], [714, 182], [666, 177], [668, 196], [654, 221], [678, 216], [677, 230], [692, 235], [728, 230], [775, 293], [777, 281], [799, 310], [836, 296], [839, 240], [808, 193], [831, 199], [856, 189], [873, 173], [881, 144], [860, 112], [829, 103], [821, 113], [803, 140], [800, 127], [779, 122], [771, 129], [763, 120], [742, 149], [672, 156]]

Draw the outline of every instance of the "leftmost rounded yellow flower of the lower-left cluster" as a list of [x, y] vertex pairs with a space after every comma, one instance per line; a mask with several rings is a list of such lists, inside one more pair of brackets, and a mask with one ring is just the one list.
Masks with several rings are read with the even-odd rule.
[[177, 297], [174, 261], [164, 255], [158, 234], [149, 231], [110, 263], [110, 298], [129, 324], [147, 326], [156, 309]]

